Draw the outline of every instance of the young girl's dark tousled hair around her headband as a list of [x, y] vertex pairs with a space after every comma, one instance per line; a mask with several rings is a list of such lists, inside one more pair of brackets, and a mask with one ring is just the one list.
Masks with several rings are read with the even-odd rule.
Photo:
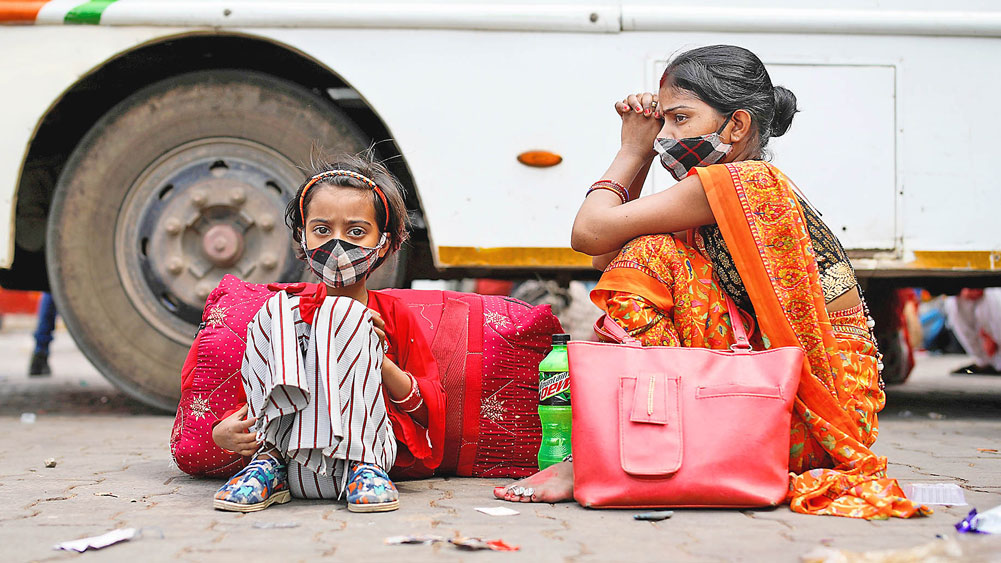
[[[306, 178], [299, 185], [299, 188], [295, 190], [295, 197], [292, 197], [291, 201], [285, 207], [285, 224], [292, 229], [292, 240], [295, 241], [296, 255], [304, 257], [301, 247], [302, 230], [305, 226], [302, 212], [309, 212], [309, 203], [312, 201], [313, 196], [316, 195], [316, 192], [319, 190], [318, 188], [323, 185], [338, 185], [369, 192], [371, 194], [372, 206], [375, 207], [375, 222], [378, 223], [379, 231], [384, 232], [388, 237], [389, 252], [386, 255], [399, 249], [406, 240], [407, 227], [409, 226], [409, 219], [406, 214], [405, 192], [403, 191], [403, 186], [400, 185], [399, 181], [396, 180], [385, 165], [374, 159], [371, 149], [353, 155], [338, 154], [326, 158], [312, 156], [310, 157], [309, 167], [309, 178]], [[386, 208], [386, 205], [382, 202], [382, 198], [365, 182], [346, 175], [320, 178], [306, 191], [305, 197], [302, 197], [302, 190], [309, 183], [309, 180], [316, 174], [329, 170], [348, 170], [372, 180], [382, 190], [383, 195], [385, 195], [385, 202], [389, 208]], [[299, 210], [300, 197], [302, 197], [302, 211]]]

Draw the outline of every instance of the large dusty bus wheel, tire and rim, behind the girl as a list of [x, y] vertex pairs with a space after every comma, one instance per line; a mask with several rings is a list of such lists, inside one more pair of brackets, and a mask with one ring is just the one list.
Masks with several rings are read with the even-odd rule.
[[108, 380], [173, 411], [208, 292], [225, 273], [303, 274], [284, 204], [314, 146], [369, 139], [310, 90], [198, 71], [132, 94], [74, 149], [56, 185], [46, 260], [60, 315]]

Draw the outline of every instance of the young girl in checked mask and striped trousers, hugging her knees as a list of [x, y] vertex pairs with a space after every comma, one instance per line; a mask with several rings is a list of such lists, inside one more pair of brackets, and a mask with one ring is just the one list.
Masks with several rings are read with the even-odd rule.
[[247, 329], [248, 401], [212, 439], [253, 460], [216, 492], [220, 510], [345, 493], [348, 510], [395, 510], [386, 471], [441, 461], [444, 393], [430, 348], [406, 307], [365, 288], [406, 237], [402, 188], [364, 158], [315, 172], [285, 217], [321, 283], [276, 293]]

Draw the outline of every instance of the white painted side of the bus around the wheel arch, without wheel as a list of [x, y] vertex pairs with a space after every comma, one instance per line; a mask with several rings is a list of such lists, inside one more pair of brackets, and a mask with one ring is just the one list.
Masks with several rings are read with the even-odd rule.
[[[789, 10], [794, 4], [770, 3]], [[238, 11], [240, 3], [227, 5]], [[113, 20], [114, 10], [134, 13], [140, 6], [121, 0], [105, 16]], [[984, 6], [965, 2], [956, 9]], [[655, 8], [630, 2], [622, 10], [642, 15]], [[984, 10], [979, 19], [989, 24], [996, 15]], [[624, 15], [623, 27], [642, 27], [632, 21]], [[115, 54], [195, 30], [206, 31], [131, 25], [0, 30], [0, 53], [16, 54], [0, 57], [10, 85], [0, 89], [0, 216], [11, 217], [0, 235], [6, 237], [0, 238], [0, 265], [12, 260], [18, 177], [47, 109]], [[1001, 190], [991, 142], [1001, 114], [987, 101], [1001, 85], [1001, 40], [994, 37], [256, 25], [225, 31], [296, 49], [357, 90], [413, 173], [439, 266], [539, 263], [526, 255], [545, 249], [556, 253], [542, 265], [585, 265], [566, 247], [585, 190], [618, 148], [613, 102], [656, 90], [674, 52], [733, 43], [761, 56], [775, 82], [799, 96], [802, 113], [773, 141], [774, 161], [849, 249], [872, 258], [864, 267], [907, 267], [922, 252], [945, 251], [999, 253], [997, 265], [992, 257], [976, 263], [1001, 269], [1001, 228], [993, 219]], [[516, 160], [533, 149], [564, 160], [552, 168]], [[655, 165], [648, 188], [671, 183]], [[481, 248], [510, 251], [478, 262], [485, 259]]]

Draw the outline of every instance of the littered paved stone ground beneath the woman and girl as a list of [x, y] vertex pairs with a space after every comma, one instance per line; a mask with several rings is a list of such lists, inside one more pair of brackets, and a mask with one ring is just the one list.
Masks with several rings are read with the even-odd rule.
[[[219, 482], [171, 467], [172, 417], [151, 412], [96, 374], [65, 332], [54, 343], [48, 379], [24, 376], [30, 318], [8, 318], [0, 333], [0, 560], [275, 561], [325, 557], [454, 561], [797, 561], [819, 546], [902, 549], [954, 538], [962, 560], [997, 560], [1001, 537], [960, 537], [953, 524], [969, 507], [937, 507], [929, 518], [867, 522], [776, 510], [678, 510], [658, 523], [636, 511], [576, 504], [508, 505], [490, 517], [495, 480], [401, 483], [401, 509], [351, 514], [329, 502], [294, 501], [255, 514], [216, 512]], [[956, 483], [980, 509], [1001, 505], [1001, 378], [957, 377], [963, 357], [922, 357], [912, 381], [889, 390], [876, 451], [902, 482]], [[24, 424], [22, 413], [36, 422]], [[43, 462], [55, 458], [47, 469]], [[255, 524], [294, 524], [255, 528]], [[96, 553], [53, 551], [54, 543], [120, 527], [143, 537]], [[162, 539], [160, 535], [162, 533]], [[514, 553], [460, 552], [448, 545], [386, 546], [386, 536], [437, 534], [503, 538]], [[921, 560], [916, 558], [913, 560]]]

